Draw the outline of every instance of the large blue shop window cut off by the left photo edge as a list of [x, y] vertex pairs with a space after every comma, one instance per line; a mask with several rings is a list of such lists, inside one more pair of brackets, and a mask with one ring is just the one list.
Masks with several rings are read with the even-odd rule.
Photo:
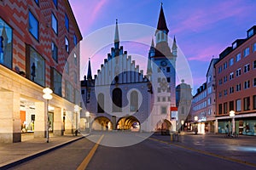
[[12, 68], [13, 30], [0, 18], [0, 64]]

